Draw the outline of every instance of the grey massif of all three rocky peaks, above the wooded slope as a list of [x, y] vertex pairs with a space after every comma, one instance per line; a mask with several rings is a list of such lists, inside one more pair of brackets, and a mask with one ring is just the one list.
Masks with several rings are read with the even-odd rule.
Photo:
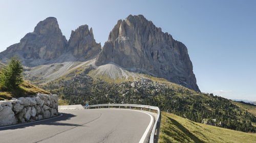
[[84, 69], [87, 66], [96, 70], [100, 67], [101, 72], [97, 73], [106, 74], [100, 76], [129, 78], [115, 73], [113, 75], [117, 76], [113, 77], [109, 74], [111, 72], [104, 71], [112, 69], [103, 69], [103, 65], [113, 64], [121, 71], [150, 74], [200, 91], [185, 45], [163, 33], [142, 15], [129, 15], [118, 20], [102, 49], [88, 25], [72, 31], [67, 41], [57, 19], [48, 17], [36, 25], [34, 32], [1, 52], [0, 61], [6, 63], [13, 55], [17, 55], [27, 67], [25, 77], [38, 78], [40, 83], [53, 80], [53, 76], [57, 79], [68, 74], [74, 67]]

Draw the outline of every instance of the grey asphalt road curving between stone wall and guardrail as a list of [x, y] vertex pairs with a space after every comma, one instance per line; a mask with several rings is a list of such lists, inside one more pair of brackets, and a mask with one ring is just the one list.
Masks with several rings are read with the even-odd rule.
[[128, 109], [59, 112], [55, 119], [0, 129], [0, 142], [139, 142], [152, 120]]

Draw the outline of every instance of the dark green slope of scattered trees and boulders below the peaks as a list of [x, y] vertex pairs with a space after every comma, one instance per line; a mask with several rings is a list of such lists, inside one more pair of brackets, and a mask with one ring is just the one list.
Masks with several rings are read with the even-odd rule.
[[90, 71], [70, 73], [42, 88], [61, 95], [65, 104], [128, 103], [158, 106], [162, 111], [190, 119], [198, 123], [218, 127], [255, 132], [256, 118], [245, 108], [231, 100], [204, 94], [168, 82], [162, 78], [147, 76], [138, 81], [106, 82], [92, 78]]

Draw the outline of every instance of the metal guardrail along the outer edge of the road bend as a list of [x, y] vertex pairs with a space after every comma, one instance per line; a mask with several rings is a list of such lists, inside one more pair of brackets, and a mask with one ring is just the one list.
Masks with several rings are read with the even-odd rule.
[[125, 106], [125, 107], [138, 107], [138, 108], [147, 108], [152, 110], [157, 110], [157, 118], [155, 119], [155, 124], [153, 126], [151, 135], [150, 135], [150, 143], [154, 143], [158, 141], [158, 134], [160, 129], [160, 122], [161, 122], [161, 112], [160, 109], [157, 106], [148, 106], [148, 105], [137, 105], [137, 104], [96, 104], [96, 105], [89, 105], [89, 106], [83, 106], [84, 108], [92, 108], [92, 107], [105, 107], [108, 106], [109, 108], [111, 106]]

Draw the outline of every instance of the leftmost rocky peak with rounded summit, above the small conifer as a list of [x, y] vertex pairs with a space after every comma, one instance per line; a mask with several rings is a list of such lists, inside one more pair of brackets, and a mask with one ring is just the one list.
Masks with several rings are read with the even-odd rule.
[[65, 51], [67, 43], [57, 19], [48, 17], [36, 25], [34, 32], [26, 34], [19, 43], [1, 52], [0, 58], [4, 60], [17, 55], [23, 60], [23, 64], [36, 65], [35, 60], [49, 61], [60, 56]]

